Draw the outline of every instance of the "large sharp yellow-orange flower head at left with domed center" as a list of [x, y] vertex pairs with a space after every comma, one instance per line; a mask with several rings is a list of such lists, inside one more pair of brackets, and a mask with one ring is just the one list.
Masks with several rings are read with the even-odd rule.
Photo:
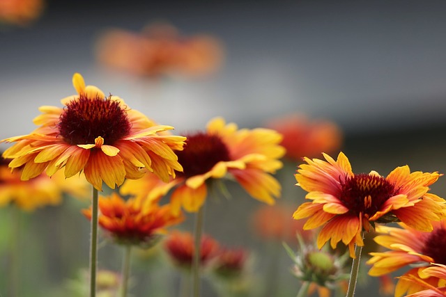
[[123, 99], [86, 86], [80, 74], [72, 82], [77, 95], [62, 99], [63, 108], [41, 106], [43, 114], [34, 119], [40, 127], [3, 140], [15, 143], [3, 156], [13, 159], [10, 168], [23, 167], [22, 180], [64, 168], [66, 177], [84, 172], [102, 191], [102, 182], [114, 188], [146, 171], [167, 182], [182, 170], [173, 150], [182, 150], [185, 138], [160, 134], [173, 127], [155, 125]]

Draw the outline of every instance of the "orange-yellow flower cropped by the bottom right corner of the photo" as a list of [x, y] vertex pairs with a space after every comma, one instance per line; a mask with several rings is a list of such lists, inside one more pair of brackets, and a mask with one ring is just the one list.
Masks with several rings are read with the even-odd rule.
[[[372, 257], [367, 262], [367, 264], [373, 265], [369, 271], [369, 275], [372, 276], [386, 275], [406, 266], [414, 266], [403, 274], [404, 278], [400, 278], [395, 289], [395, 296], [402, 296], [406, 291], [408, 294], [420, 291], [422, 286], [419, 283], [407, 280], [408, 278], [419, 278], [418, 275], [426, 266], [431, 266], [431, 263], [440, 266], [446, 265], [444, 252], [446, 220], [432, 222], [433, 230], [431, 232], [415, 230], [403, 223], [399, 223], [399, 225], [401, 227], [378, 226], [376, 228], [380, 235], [375, 237], [375, 241], [389, 250], [371, 252]], [[438, 287], [444, 280], [432, 275], [429, 278], [425, 277], [423, 282]]]

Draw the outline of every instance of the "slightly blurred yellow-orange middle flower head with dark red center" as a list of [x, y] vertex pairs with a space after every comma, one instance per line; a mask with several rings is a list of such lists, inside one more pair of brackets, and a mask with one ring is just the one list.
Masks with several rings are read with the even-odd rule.
[[[127, 181], [121, 187], [125, 195], [147, 195], [157, 200], [172, 188], [171, 204], [195, 212], [206, 200], [208, 185], [223, 178], [236, 180], [253, 198], [273, 204], [280, 195], [280, 184], [272, 173], [282, 167], [279, 158], [284, 148], [282, 137], [270, 129], [238, 129], [223, 118], [208, 123], [204, 132], [189, 134], [184, 150], [176, 152], [183, 172], [171, 182], [160, 183], [154, 175]], [[146, 188], [146, 191], [136, 190]]]

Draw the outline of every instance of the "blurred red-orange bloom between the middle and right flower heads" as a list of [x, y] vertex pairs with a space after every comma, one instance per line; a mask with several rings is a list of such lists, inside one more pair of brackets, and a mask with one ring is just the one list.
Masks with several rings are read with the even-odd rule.
[[341, 129], [329, 120], [309, 120], [304, 115], [291, 114], [272, 119], [266, 125], [284, 136], [281, 145], [293, 161], [301, 161], [304, 156], [314, 158], [341, 147]]

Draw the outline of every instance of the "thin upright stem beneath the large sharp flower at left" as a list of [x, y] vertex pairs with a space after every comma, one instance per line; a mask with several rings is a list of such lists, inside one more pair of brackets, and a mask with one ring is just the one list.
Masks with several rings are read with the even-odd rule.
[[96, 264], [98, 262], [98, 189], [94, 186], [91, 204], [90, 297], [95, 297]]

